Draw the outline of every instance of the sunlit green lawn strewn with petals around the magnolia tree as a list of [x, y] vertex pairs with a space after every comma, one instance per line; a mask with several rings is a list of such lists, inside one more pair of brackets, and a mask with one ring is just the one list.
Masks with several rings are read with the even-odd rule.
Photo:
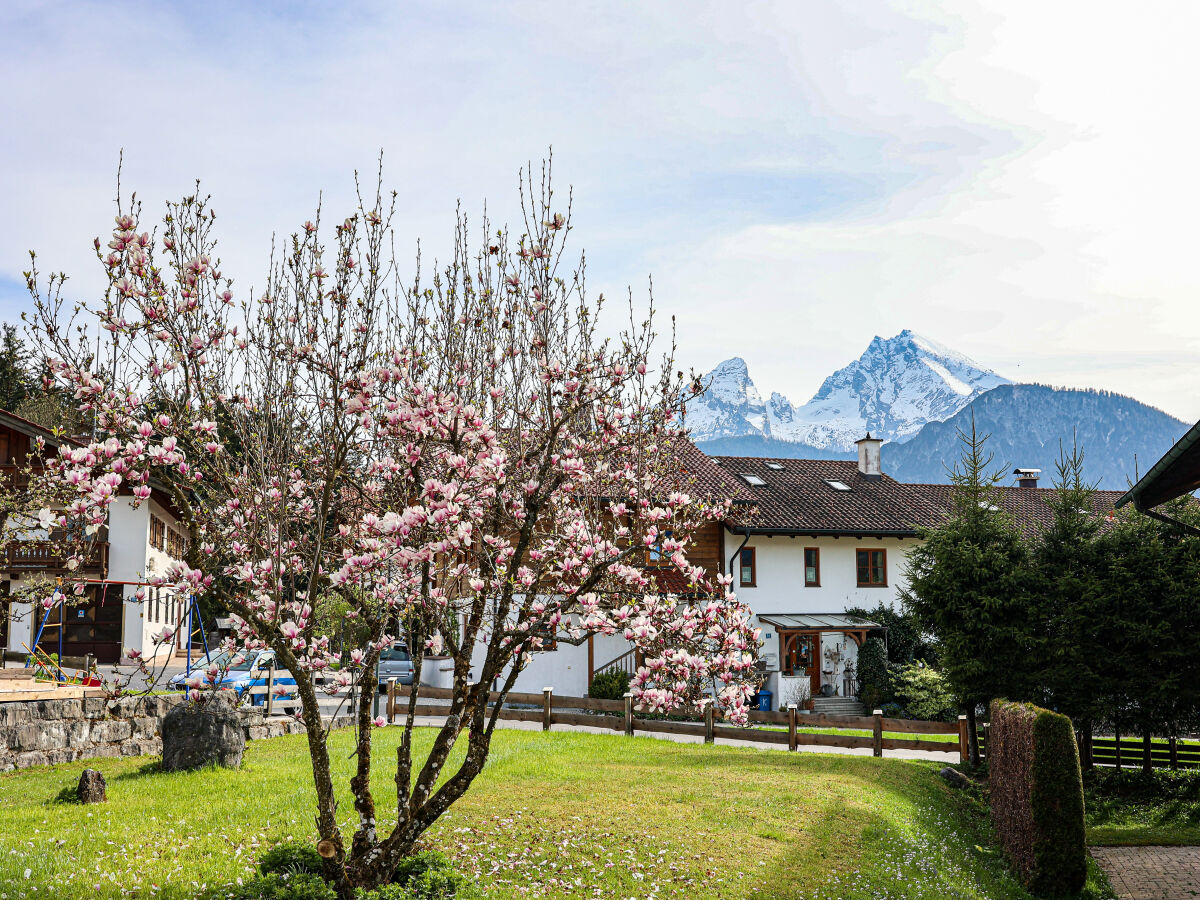
[[[379, 758], [398, 728], [377, 732]], [[427, 730], [422, 742], [431, 738]], [[334, 758], [349, 770], [349, 736]], [[85, 766], [109, 803], [56, 803]], [[493, 898], [1027, 898], [986, 848], [976, 797], [937, 764], [500, 731], [484, 775], [430, 842]], [[386, 804], [390, 773], [378, 776]], [[344, 818], [353, 820], [347, 799]], [[386, 805], [382, 808], [386, 818]], [[239, 772], [149, 758], [0, 775], [0, 900], [193, 898], [311, 839], [302, 736], [254, 742]], [[1086, 896], [1110, 896], [1093, 871]]]

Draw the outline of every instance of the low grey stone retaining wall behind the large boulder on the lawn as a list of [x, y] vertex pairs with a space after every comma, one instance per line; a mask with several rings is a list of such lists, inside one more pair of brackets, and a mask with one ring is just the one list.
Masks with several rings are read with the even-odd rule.
[[[162, 719], [182, 702], [182, 695], [160, 695], [0, 703], [0, 772], [101, 756], [161, 754]], [[241, 714], [247, 740], [305, 730], [294, 719], [265, 719], [257, 709], [242, 709]], [[335, 722], [343, 724], [348, 722]]]

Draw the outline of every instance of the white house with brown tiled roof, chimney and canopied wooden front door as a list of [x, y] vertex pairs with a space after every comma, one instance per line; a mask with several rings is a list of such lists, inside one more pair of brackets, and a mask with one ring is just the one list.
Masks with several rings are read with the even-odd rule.
[[882, 442], [858, 460], [716, 457], [755, 500], [726, 522], [738, 596], [762, 626], [764, 688], [773, 706], [853, 697], [858, 648], [882, 628], [847, 610], [894, 605], [917, 528], [943, 506], [883, 474]]

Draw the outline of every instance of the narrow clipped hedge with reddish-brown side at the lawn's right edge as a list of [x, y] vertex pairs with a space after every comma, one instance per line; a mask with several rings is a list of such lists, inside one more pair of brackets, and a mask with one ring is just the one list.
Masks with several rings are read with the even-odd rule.
[[1032, 703], [991, 704], [991, 815], [1001, 846], [1037, 896], [1074, 896], [1087, 880], [1084, 780], [1070, 719]]

